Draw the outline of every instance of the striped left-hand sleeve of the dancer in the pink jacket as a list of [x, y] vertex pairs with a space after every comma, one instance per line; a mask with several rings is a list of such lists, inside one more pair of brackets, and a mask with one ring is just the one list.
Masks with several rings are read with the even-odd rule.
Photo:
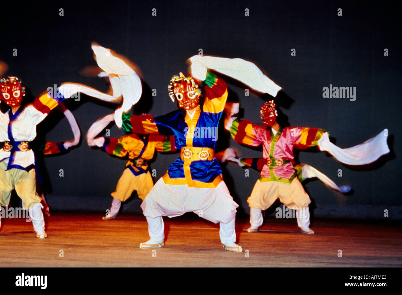
[[237, 118], [232, 122], [232, 126], [230, 126], [230, 135], [232, 135], [234, 141], [237, 143], [258, 146], [262, 142], [258, 136], [260, 128], [264, 127], [247, 120], [240, 121]]

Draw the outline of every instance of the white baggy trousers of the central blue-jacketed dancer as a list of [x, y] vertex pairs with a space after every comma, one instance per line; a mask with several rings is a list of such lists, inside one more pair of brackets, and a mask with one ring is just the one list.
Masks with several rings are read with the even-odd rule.
[[187, 184], [165, 184], [160, 178], [141, 204], [148, 221], [152, 243], [164, 240], [162, 216], [176, 217], [194, 212], [200, 217], [220, 225], [222, 244], [237, 246], [235, 217], [238, 205], [222, 181], [216, 188], [189, 187]]

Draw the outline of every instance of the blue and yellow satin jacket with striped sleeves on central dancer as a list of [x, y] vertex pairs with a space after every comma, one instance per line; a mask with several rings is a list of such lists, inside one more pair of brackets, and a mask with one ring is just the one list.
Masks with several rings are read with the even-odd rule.
[[211, 73], [204, 83], [207, 86], [203, 109], [198, 106], [192, 118], [188, 113], [183, 117], [179, 110], [156, 118], [123, 114], [123, 129], [126, 131], [141, 134], [173, 133], [176, 148], [180, 148], [180, 158], [162, 176], [166, 184], [215, 188], [223, 180], [222, 170], [214, 158], [214, 150], [217, 143], [216, 129], [228, 92], [224, 80]]

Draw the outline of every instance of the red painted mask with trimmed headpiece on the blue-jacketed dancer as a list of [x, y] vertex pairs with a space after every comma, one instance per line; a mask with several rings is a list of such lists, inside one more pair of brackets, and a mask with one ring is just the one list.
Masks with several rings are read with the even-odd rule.
[[199, 104], [201, 90], [193, 78], [186, 77], [181, 72], [170, 80], [168, 90], [170, 99], [173, 102], [177, 99], [180, 108], [191, 110]]

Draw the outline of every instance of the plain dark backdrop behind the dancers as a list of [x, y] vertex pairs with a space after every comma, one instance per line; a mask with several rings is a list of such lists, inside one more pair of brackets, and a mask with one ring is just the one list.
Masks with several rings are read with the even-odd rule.
[[[400, 131], [400, 15], [384, 1], [351, 4], [349, 1], [96, 1], [4, 4], [0, 59], [10, 69], [6, 75], [21, 78], [36, 96], [62, 82], [80, 82], [101, 91], [100, 78], [79, 71], [96, 65], [91, 41], [111, 48], [135, 62], [143, 73], [144, 94], [137, 112], [162, 115], [176, 108], [167, 95], [173, 74], [187, 71], [185, 61], [198, 54], [240, 57], [258, 63], [283, 90], [277, 102], [291, 126], [326, 129], [340, 147], [367, 140], [384, 128], [390, 132], [391, 154], [366, 167], [340, 164], [324, 152], [300, 152], [300, 162], [322, 171], [337, 184], [350, 184], [351, 195], [341, 195], [320, 181], [310, 181], [316, 216], [402, 218]], [[8, 9], [10, 5], [10, 9]], [[59, 15], [59, 9], [64, 16]], [[156, 16], [152, 9], [156, 8]], [[249, 9], [249, 16], [245, 9]], [[338, 8], [342, 16], [338, 16]], [[291, 49], [296, 55], [291, 56]], [[17, 56], [13, 50], [17, 49]], [[389, 56], [384, 56], [384, 49]], [[356, 100], [323, 98], [322, 88], [356, 87]], [[261, 123], [260, 105], [269, 96], [244, 96], [244, 87], [228, 83], [230, 99], [240, 100], [244, 118]], [[152, 89], [157, 96], [152, 97]], [[82, 95], [70, 100], [83, 135], [99, 117], [112, 113], [113, 105]], [[41, 140], [72, 138], [63, 115], [53, 111], [38, 127]], [[115, 126], [111, 135], [125, 134]], [[219, 147], [236, 147], [244, 156], [261, 156], [258, 149], [234, 143], [219, 133]], [[156, 181], [177, 155], [158, 154], [151, 169]], [[125, 160], [88, 147], [85, 140], [65, 155], [45, 158], [45, 188], [53, 209], [104, 210]], [[249, 196], [258, 172], [235, 164], [224, 165], [224, 177], [240, 212], [248, 212]], [[59, 170], [64, 176], [59, 176]], [[338, 169], [342, 177], [338, 177]], [[140, 212], [138, 198], [126, 210]], [[131, 205], [130, 205], [131, 204]], [[130, 207], [131, 206], [131, 207]], [[275, 210], [271, 209], [271, 212]]]

